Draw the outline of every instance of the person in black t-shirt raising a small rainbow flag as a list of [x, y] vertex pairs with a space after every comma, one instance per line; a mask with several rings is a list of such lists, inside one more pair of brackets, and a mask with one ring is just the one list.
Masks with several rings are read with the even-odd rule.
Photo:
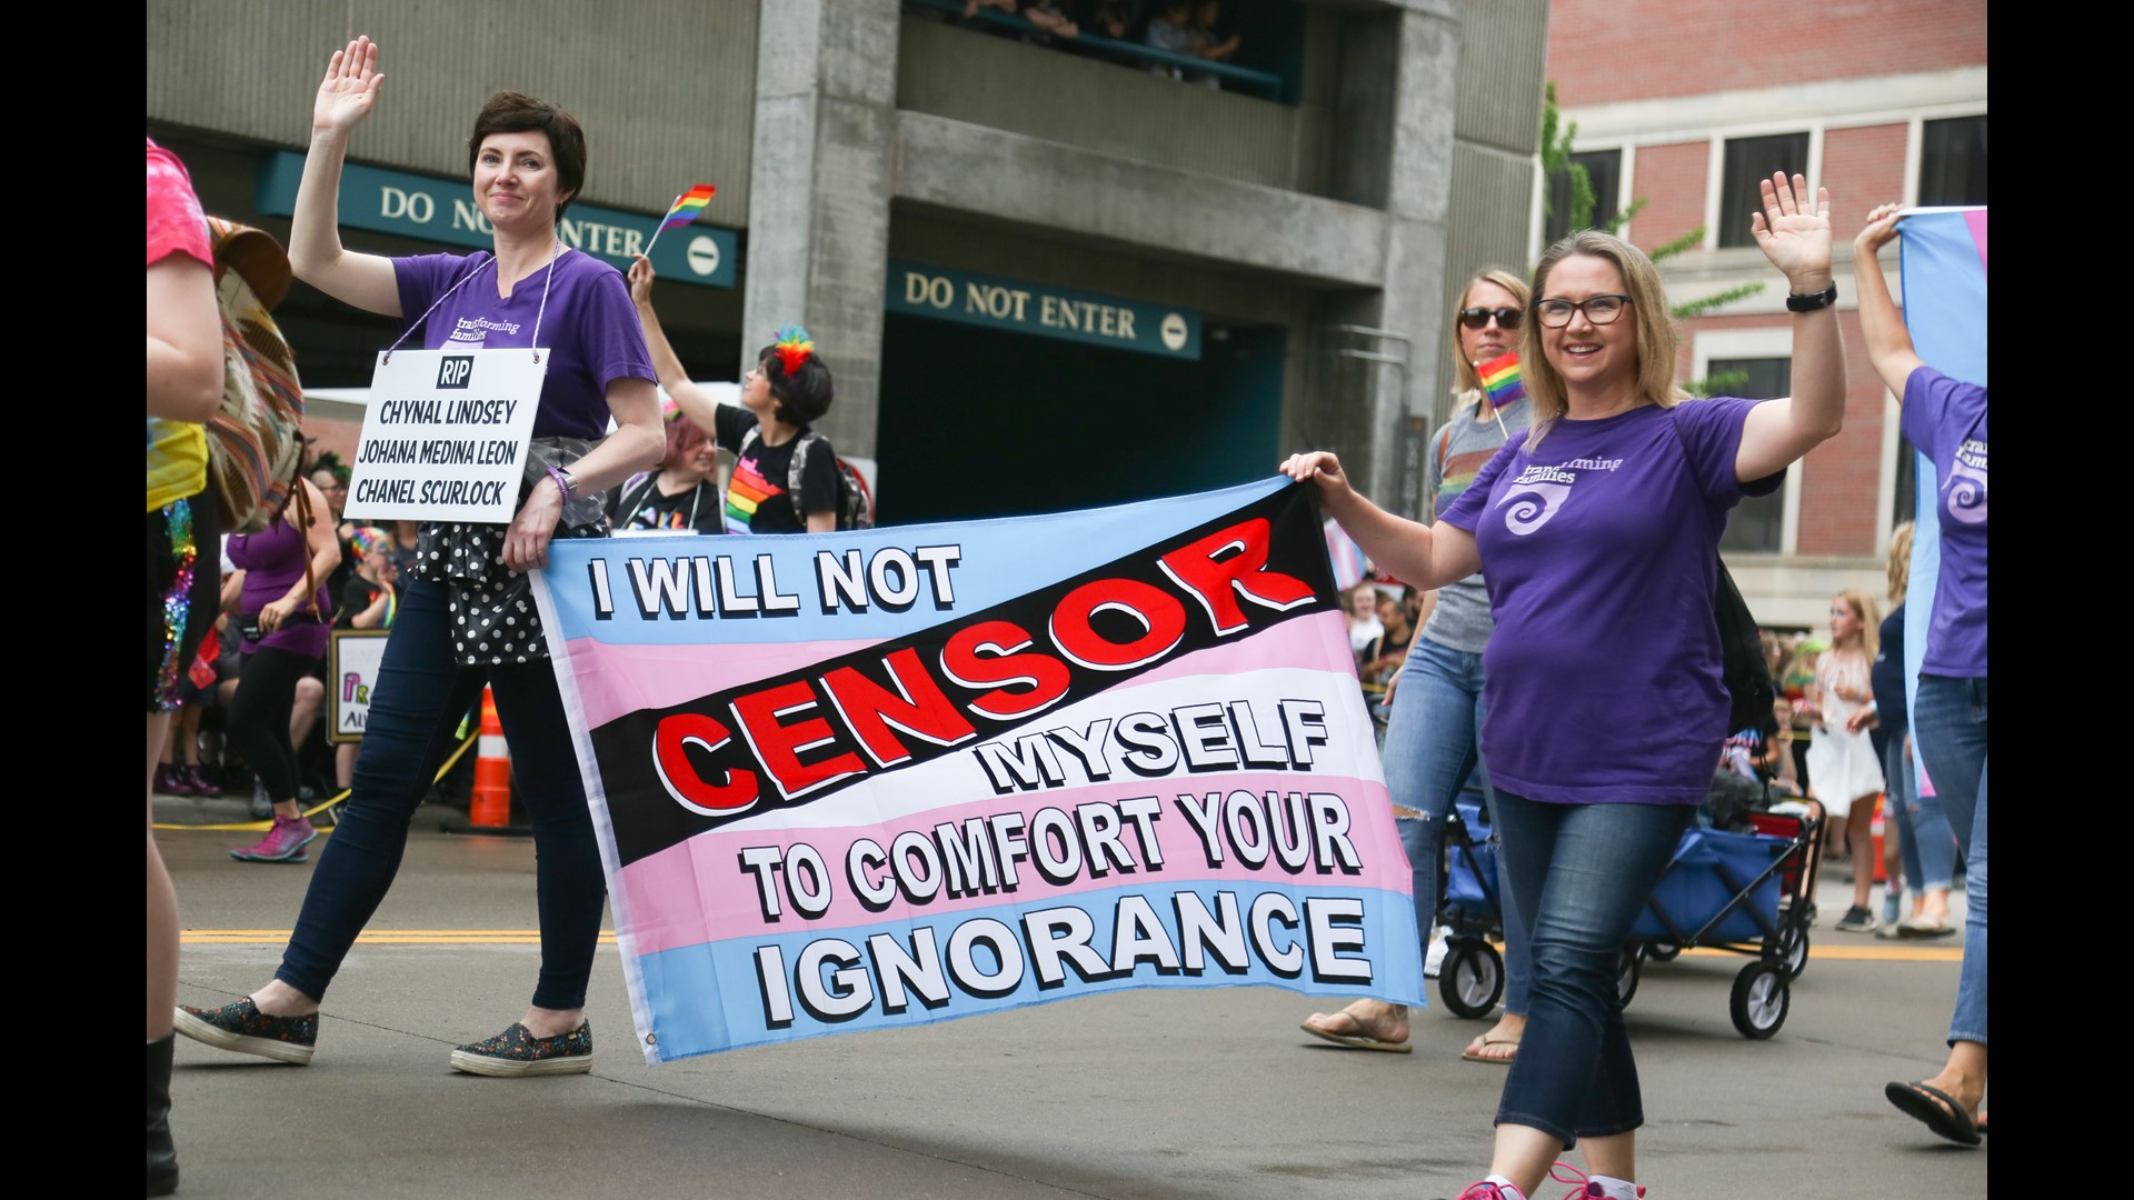
[[[830, 367], [807, 331], [787, 325], [755, 354], [755, 369], [740, 380], [740, 404], [719, 404], [689, 380], [653, 312], [653, 265], [642, 254], [630, 267], [630, 299], [653, 352], [659, 386], [681, 412], [713, 429], [719, 448], [732, 451], [734, 476], [726, 485], [728, 534], [828, 534], [837, 530], [837, 451], [809, 423], [830, 410]], [[794, 451], [805, 444], [798, 489]], [[798, 491], [798, 500], [794, 498]]]

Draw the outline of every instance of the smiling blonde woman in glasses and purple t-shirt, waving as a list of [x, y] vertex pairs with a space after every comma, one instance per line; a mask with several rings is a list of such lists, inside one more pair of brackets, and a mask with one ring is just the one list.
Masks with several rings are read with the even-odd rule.
[[[1583, 231], [1534, 267], [1519, 337], [1532, 429], [1436, 523], [1374, 506], [1334, 455], [1283, 463], [1394, 577], [1487, 579], [1481, 756], [1532, 995], [1490, 1174], [1462, 1200], [1526, 1200], [1551, 1172], [1588, 1196], [1639, 1191], [1645, 1112], [1615, 969], [1729, 735], [1720, 534], [1743, 495], [1773, 491], [1835, 436], [1846, 408], [1829, 192], [1773, 175], [1750, 228], [1793, 295], [1790, 397], [1686, 404], [1652, 258]], [[1590, 1174], [1551, 1166], [1571, 1144]]]

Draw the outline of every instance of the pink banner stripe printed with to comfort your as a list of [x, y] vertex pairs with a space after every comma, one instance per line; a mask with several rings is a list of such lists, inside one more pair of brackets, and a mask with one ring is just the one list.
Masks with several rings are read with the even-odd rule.
[[[1225, 809], [1231, 807], [1227, 805], [1227, 796], [1231, 796], [1233, 792], [1246, 792], [1248, 796], [1257, 796], [1263, 801], [1268, 792], [1274, 792], [1278, 799], [1274, 814], [1274, 846], [1295, 843], [1295, 835], [1291, 833], [1293, 828], [1291, 816], [1302, 809], [1306, 850], [1312, 854], [1312, 858], [1295, 875], [1283, 869], [1272, 852], [1265, 854], [1263, 867], [1257, 869], [1246, 867], [1231, 848], [1231, 835], [1221, 833], [1225, 843], [1223, 863], [1219, 867], [1210, 867], [1197, 826], [1193, 818], [1189, 818], [1180, 807], [1178, 801], [1180, 792], [1193, 794], [1195, 799], [1199, 799], [1199, 803], [1206, 803], [1208, 792], [1221, 792], [1225, 801], [1216, 805], [1216, 820], [1223, 824], [1225, 831], [1229, 828], [1229, 822], [1223, 820]], [[1340, 796], [1342, 803], [1347, 805], [1347, 839], [1355, 848], [1355, 860], [1374, 863], [1376, 867], [1368, 867], [1355, 875], [1340, 873], [1332, 865], [1321, 867], [1319, 850], [1321, 846], [1329, 846], [1329, 841], [1325, 841], [1315, 833], [1310, 816], [1312, 805], [1308, 801], [1297, 807], [1291, 807], [1287, 799], [1291, 792], [1300, 792], [1306, 796], [1310, 792], [1332, 792]], [[894, 848], [894, 839], [901, 833], [913, 831], [922, 835], [928, 846], [935, 848], [935, 856], [941, 856], [941, 843], [935, 841], [933, 837], [935, 826], [952, 824], [956, 826], [956, 833], [962, 833], [962, 822], [967, 820], [973, 818], [984, 820], [994, 814], [1016, 811], [1022, 814], [1024, 818], [1022, 837], [1035, 843], [1031, 826], [1037, 824], [1039, 811], [1056, 809], [1058, 814], [1065, 814], [1067, 822], [1073, 822], [1078, 805], [1090, 805], [1090, 803], [1112, 805], [1116, 801], [1133, 796], [1150, 796], [1150, 794], [1159, 799], [1159, 809], [1152, 818], [1148, 818], [1148, 824], [1152, 828], [1157, 848], [1161, 850], [1163, 856], [1163, 865], [1154, 871], [1150, 871], [1150, 858], [1146, 848], [1142, 846], [1137, 824], [1133, 820], [1120, 818], [1116, 828], [1116, 846], [1125, 852], [1125, 856], [1133, 865], [1133, 871], [1129, 873], [1120, 873], [1116, 869], [1116, 858], [1105, 856], [1103, 858], [1108, 867], [1105, 873], [1093, 878], [1088, 863], [1090, 856], [1078, 850], [1078, 854], [1084, 854], [1084, 860], [1076, 871], [1073, 880], [1067, 884], [1054, 884], [1046, 880], [1046, 875], [1039, 871], [1033, 850], [1031, 856], [1022, 856], [1016, 860], [1014, 890], [994, 888], [992, 893], [977, 890], [973, 895], [950, 897], [947, 888], [943, 886], [941, 893], [935, 895], [930, 901], [911, 903], [903, 895], [898, 895], [888, 903], [888, 907], [879, 912], [871, 912], [860, 903], [860, 897], [854, 893], [854, 884], [847, 878], [847, 854], [851, 852], [851, 846], [862, 837], [877, 841], [883, 852], [890, 852]], [[770, 933], [798, 933], [798, 931], [834, 931], [854, 925], [879, 927], [892, 920], [909, 920], [941, 912], [994, 907], [1001, 903], [1037, 903], [1054, 897], [1071, 897], [1080, 893], [1116, 888], [1122, 882], [1150, 880], [1150, 878], [1163, 880], [1167, 884], [1189, 884], [1204, 880], [1308, 884], [1315, 880], [1327, 880], [1327, 882], [1338, 882], [1344, 888], [1402, 890], [1408, 884], [1406, 852], [1394, 837], [1391, 822], [1383, 820], [1372, 822], [1368, 820], [1368, 814], [1364, 809], [1364, 805], [1389, 805], [1389, 803], [1391, 801], [1387, 799], [1385, 784], [1372, 779], [1351, 779], [1338, 775], [1295, 775], [1283, 771], [1255, 771], [1255, 773], [1240, 771], [1240, 773], [1225, 773], [1219, 779], [1184, 777], [1165, 781], [1108, 784], [1099, 788], [1073, 788], [1073, 790], [1048, 792], [1044, 796], [1031, 796], [1031, 803], [1026, 807], [1009, 803], [1005, 799], [975, 801], [969, 805], [950, 805], [926, 814], [913, 814], [909, 818], [894, 822], [894, 826], [854, 824], [837, 828], [770, 828], [770, 831], [760, 828], [747, 833], [719, 833], [719, 831], [700, 833], [689, 841], [683, 841], [681, 846], [662, 850], [651, 858], [640, 858], [638, 863], [623, 867], [619, 873], [619, 882], [625, 893], [623, 899], [627, 912], [638, 914], [640, 918], [647, 914], [664, 914], [666, 918], [662, 925], [642, 925], [634, 931], [636, 933], [634, 948], [638, 954], [655, 954], [659, 950], [676, 950], [706, 942], [721, 942], [728, 937], [760, 937]], [[1236, 805], [1236, 809], [1238, 811], [1233, 816], [1238, 828], [1242, 828], [1246, 835], [1244, 839], [1246, 841], [1255, 839], [1251, 811], [1257, 811], [1259, 820], [1263, 822], [1268, 820], [1265, 805], [1240, 803]], [[1112, 811], [1118, 814], [1118, 809]], [[1050, 822], [1058, 822], [1061, 818], [1048, 816], [1046, 820], [1050, 826]], [[982, 828], [988, 831], [986, 837], [990, 839], [992, 837], [990, 826], [982, 824]], [[1372, 837], [1372, 831], [1385, 833], [1383, 843], [1379, 843]], [[1268, 837], [1265, 833], [1257, 835], [1259, 841], [1265, 841], [1265, 837]], [[813, 920], [802, 918], [798, 912], [790, 907], [787, 901], [790, 886], [783, 882], [783, 875], [792, 873], [794, 867], [787, 860], [783, 871], [779, 871], [781, 878], [773, 880], [777, 903], [783, 907], [783, 914], [777, 918], [766, 918], [762, 907], [762, 895], [755, 882], [758, 873], [743, 869], [740, 865], [743, 852], [758, 848], [777, 848], [781, 852], [787, 852], [790, 846], [802, 841], [815, 848], [815, 852], [822, 856], [826, 871], [830, 873], [828, 880], [832, 897], [830, 907], [828, 912], [824, 912]], [[1078, 837], [1078, 846], [1080, 843], [1086, 843], [1086, 837]], [[1056, 846], [1056, 841], [1052, 846]], [[909, 860], [922, 860], [922, 852], [918, 848], [911, 848], [907, 863]], [[869, 880], [875, 880], [886, 873], [886, 867], [873, 865], [873, 867], [862, 867], [862, 871], [866, 871]], [[941, 871], [945, 873], [945, 867]], [[770, 878], [768, 871], [762, 871], [762, 875], [766, 880]], [[715, 880], [726, 880], [726, 886], [713, 886]], [[807, 884], [807, 880], [802, 880], [802, 884]]]

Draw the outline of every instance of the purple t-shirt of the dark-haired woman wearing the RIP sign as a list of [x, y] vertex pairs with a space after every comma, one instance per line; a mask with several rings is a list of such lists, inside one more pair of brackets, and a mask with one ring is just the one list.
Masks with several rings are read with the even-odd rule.
[[420, 254], [395, 258], [401, 316], [414, 320], [437, 297], [457, 288], [423, 327], [427, 350], [508, 350], [540, 344], [551, 350], [548, 374], [534, 412], [536, 438], [604, 438], [608, 433], [608, 384], [615, 380], [657, 380], [644, 348], [638, 310], [630, 303], [623, 273], [591, 254], [563, 250], [555, 258], [555, 282], [542, 267], [519, 280], [508, 299], [497, 297], [497, 267], [491, 254]]

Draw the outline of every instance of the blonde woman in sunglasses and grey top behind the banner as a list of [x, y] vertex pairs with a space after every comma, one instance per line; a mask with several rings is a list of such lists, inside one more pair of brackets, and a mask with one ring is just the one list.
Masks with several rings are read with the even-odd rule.
[[[1468, 280], [1453, 312], [1453, 365], [1458, 408], [1430, 440], [1423, 463], [1423, 504], [1434, 517], [1453, 504], [1475, 472], [1513, 431], [1526, 429], [1526, 389], [1519, 384], [1519, 327], [1526, 322], [1526, 280], [1490, 267]], [[1385, 726], [1385, 788], [1394, 796], [1394, 826], [1415, 871], [1415, 927], [1430, 940], [1426, 961], [1443, 959], [1445, 942], [1430, 937], [1438, 922], [1438, 852], [1445, 818], [1470, 777], [1479, 777], [1494, 809], [1487, 773], [1477, 749], [1483, 720], [1483, 649], [1490, 645], [1490, 596], [1481, 572], [1438, 589], [1438, 602], [1408, 658], [1394, 677], [1391, 717]], [[1492, 824], [1496, 818], [1492, 816]], [[1509, 901], [1509, 888], [1498, 888]], [[1504, 1016], [1462, 1053], [1466, 1061], [1509, 1065], [1526, 1031], [1526, 933], [1504, 912]], [[1357, 999], [1340, 1012], [1315, 1012], [1304, 1031], [1344, 1046], [1408, 1051], [1408, 1010], [1383, 999]]]

